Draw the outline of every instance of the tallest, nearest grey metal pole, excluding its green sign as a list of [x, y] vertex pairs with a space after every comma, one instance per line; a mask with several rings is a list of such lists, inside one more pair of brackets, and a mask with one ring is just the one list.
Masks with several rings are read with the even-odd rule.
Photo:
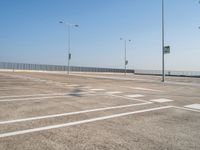
[[162, 0], [162, 82], [165, 82], [165, 22], [164, 22], [164, 0]]

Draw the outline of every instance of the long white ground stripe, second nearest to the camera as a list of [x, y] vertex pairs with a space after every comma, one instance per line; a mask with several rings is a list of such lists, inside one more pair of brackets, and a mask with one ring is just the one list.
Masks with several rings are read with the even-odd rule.
[[119, 108], [127, 108], [127, 107], [133, 107], [133, 106], [141, 106], [141, 105], [147, 105], [147, 104], [151, 104], [151, 103], [152, 102], [130, 104], [130, 105], [120, 105], [120, 106], [104, 107], [104, 108], [97, 108], [97, 109], [89, 109], [89, 110], [83, 110], [83, 111], [77, 111], [77, 112], [68, 112], [68, 113], [62, 113], [62, 114], [54, 114], [54, 115], [46, 115], [46, 116], [39, 116], [39, 117], [31, 117], [31, 118], [24, 118], [24, 119], [2, 121], [2, 122], [0, 122], [0, 125], [10, 124], [10, 123], [18, 123], [18, 122], [24, 122], [24, 121], [48, 119], [48, 118], [54, 118], [54, 117], [69, 116], [69, 115], [77, 115], [77, 114], [96, 112], [96, 111], [105, 111], [105, 110], [112, 110], [112, 109], [119, 109]]

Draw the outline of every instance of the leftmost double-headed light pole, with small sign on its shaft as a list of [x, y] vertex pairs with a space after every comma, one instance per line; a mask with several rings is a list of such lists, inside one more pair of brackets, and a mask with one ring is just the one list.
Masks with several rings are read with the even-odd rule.
[[65, 23], [64, 21], [59, 21], [59, 23], [63, 23], [66, 25], [68, 30], [68, 69], [67, 73], [70, 73], [70, 60], [71, 60], [71, 27], [79, 27], [77, 24]]

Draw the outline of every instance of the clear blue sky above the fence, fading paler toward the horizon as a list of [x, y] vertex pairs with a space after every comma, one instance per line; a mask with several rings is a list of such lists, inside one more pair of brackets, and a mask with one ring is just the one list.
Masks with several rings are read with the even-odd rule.
[[[200, 4], [165, 0], [166, 69], [200, 71]], [[161, 69], [161, 0], [0, 0], [0, 61]]]

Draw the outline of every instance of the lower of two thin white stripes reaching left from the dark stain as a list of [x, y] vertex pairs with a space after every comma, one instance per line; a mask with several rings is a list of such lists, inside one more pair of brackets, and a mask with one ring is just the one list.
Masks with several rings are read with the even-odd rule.
[[19, 98], [19, 99], [4, 99], [4, 100], [0, 100], [0, 102], [30, 101], [30, 100], [53, 99], [53, 98], [66, 98], [66, 97], [71, 97], [70, 95], [76, 95], [76, 94], [88, 94], [88, 92], [69, 93], [67, 95], [60, 95], [60, 96], [31, 97], [31, 98], [29, 97], [29, 98]]

